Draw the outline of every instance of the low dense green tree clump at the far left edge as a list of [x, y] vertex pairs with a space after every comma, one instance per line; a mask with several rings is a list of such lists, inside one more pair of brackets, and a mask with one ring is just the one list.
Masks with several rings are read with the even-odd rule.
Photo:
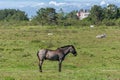
[[0, 21], [24, 21], [28, 20], [24, 11], [16, 9], [0, 10]]

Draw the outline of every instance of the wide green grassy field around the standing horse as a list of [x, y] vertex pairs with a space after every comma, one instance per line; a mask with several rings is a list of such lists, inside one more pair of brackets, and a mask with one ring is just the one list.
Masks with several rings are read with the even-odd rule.
[[[37, 51], [68, 44], [78, 56], [67, 55], [60, 73], [58, 62], [46, 60], [40, 73]], [[120, 80], [120, 28], [1, 27], [0, 80]]]

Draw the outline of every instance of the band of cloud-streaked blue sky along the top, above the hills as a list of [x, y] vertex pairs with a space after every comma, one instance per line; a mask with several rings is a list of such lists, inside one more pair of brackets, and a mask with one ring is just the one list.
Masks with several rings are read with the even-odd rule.
[[120, 3], [120, 0], [0, 0], [0, 9], [2, 8], [21, 8], [21, 7], [46, 7], [46, 6], [86, 6], [97, 4], [104, 5], [110, 3]]

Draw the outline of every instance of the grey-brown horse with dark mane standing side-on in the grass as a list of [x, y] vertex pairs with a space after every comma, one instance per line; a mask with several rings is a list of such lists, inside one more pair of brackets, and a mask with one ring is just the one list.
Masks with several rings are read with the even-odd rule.
[[72, 53], [74, 56], [77, 56], [76, 49], [73, 45], [66, 45], [57, 48], [56, 50], [50, 49], [41, 49], [37, 52], [37, 57], [39, 59], [39, 70], [42, 72], [42, 64], [44, 60], [52, 60], [59, 62], [58, 71], [61, 72], [62, 61], [65, 59], [65, 56], [69, 53]]

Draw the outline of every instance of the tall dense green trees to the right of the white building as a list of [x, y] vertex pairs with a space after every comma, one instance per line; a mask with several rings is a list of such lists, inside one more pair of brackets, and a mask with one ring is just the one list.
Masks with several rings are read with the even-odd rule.
[[120, 8], [113, 4], [110, 4], [104, 8], [102, 8], [101, 6], [94, 5], [90, 10], [90, 15], [88, 19], [92, 22], [92, 24], [96, 25], [119, 25]]

